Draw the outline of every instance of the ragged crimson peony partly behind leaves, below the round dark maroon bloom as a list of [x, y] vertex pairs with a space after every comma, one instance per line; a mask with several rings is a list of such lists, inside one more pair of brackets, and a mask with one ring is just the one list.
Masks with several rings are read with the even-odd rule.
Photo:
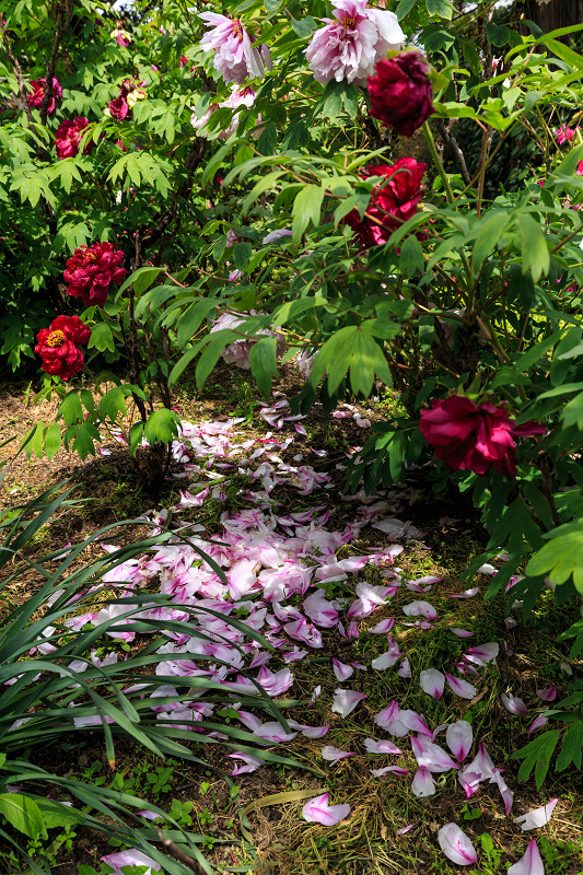
[[383, 228], [372, 222], [366, 215], [361, 219], [358, 210], [352, 210], [346, 222], [358, 234], [363, 246], [375, 246], [386, 243], [390, 234], [403, 222], [417, 212], [417, 205], [423, 191], [421, 179], [427, 170], [427, 164], [416, 161], [415, 158], [401, 158], [395, 164], [375, 164], [365, 173], [359, 174], [361, 179], [368, 176], [386, 176], [386, 182], [380, 183], [373, 189], [366, 213], [383, 223]]

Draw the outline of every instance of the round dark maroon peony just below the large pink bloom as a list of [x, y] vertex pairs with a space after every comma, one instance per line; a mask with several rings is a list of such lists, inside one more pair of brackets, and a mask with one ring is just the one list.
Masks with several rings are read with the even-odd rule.
[[420, 51], [382, 59], [369, 77], [371, 115], [387, 128], [411, 137], [435, 112], [430, 68]]

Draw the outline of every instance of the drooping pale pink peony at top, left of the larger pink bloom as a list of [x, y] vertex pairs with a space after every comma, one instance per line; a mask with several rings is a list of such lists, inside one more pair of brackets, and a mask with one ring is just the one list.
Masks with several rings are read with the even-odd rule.
[[201, 12], [200, 18], [211, 27], [200, 45], [214, 51], [213, 66], [225, 82], [245, 82], [265, 75], [260, 48], [252, 45], [250, 36], [241, 20], [228, 19], [215, 12]]

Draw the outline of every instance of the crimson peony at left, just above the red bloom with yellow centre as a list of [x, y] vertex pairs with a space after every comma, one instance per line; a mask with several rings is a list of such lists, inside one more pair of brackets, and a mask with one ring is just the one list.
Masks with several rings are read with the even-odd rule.
[[67, 294], [80, 298], [88, 307], [102, 307], [109, 284], [119, 285], [128, 272], [119, 266], [123, 260], [121, 249], [115, 250], [110, 243], [94, 243], [75, 249], [63, 273]]

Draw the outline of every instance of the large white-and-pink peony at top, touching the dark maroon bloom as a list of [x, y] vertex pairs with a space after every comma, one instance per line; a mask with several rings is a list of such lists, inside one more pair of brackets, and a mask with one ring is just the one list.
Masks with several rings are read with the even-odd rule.
[[316, 31], [305, 49], [314, 79], [326, 84], [365, 84], [374, 65], [405, 40], [394, 12], [366, 9], [366, 0], [333, 0], [334, 19]]

